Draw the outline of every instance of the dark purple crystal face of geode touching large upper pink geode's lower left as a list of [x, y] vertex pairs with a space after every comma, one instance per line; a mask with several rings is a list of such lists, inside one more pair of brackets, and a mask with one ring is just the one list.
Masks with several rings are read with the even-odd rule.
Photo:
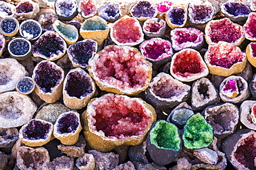
[[90, 78], [80, 72], [71, 72], [68, 74], [65, 89], [69, 96], [75, 96], [76, 98], [87, 96], [93, 92]]

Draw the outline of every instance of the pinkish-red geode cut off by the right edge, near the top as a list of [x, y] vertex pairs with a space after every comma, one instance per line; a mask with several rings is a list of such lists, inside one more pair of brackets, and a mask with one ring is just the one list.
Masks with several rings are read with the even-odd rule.
[[256, 24], [256, 12], [250, 12], [250, 14], [248, 15], [248, 19], [243, 26], [245, 37], [250, 41], [256, 41], [255, 24]]

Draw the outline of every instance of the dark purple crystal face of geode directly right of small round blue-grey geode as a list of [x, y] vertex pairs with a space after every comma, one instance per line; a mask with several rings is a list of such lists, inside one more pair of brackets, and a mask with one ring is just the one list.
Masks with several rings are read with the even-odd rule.
[[52, 92], [52, 87], [62, 78], [62, 72], [49, 62], [42, 62], [35, 70], [35, 82], [46, 93]]

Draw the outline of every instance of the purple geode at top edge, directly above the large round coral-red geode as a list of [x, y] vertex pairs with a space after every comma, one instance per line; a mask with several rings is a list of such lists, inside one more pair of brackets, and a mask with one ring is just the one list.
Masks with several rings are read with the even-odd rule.
[[148, 1], [139, 1], [134, 6], [134, 10], [131, 11], [131, 14], [136, 18], [153, 18], [155, 13], [156, 8]]

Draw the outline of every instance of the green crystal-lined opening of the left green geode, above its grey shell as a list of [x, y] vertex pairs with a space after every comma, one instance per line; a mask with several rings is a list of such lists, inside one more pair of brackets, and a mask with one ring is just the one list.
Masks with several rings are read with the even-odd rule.
[[172, 149], [179, 151], [181, 138], [178, 128], [165, 120], [160, 120], [150, 131], [150, 141], [159, 149]]

